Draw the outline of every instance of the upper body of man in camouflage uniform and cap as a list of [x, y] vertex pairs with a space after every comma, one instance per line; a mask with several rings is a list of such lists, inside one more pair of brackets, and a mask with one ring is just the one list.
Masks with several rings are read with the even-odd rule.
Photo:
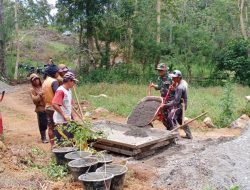
[[150, 83], [149, 86], [155, 90], [159, 90], [161, 97], [165, 97], [168, 92], [168, 88], [172, 82], [171, 77], [168, 74], [167, 66], [165, 63], [160, 63], [157, 65], [156, 70], [158, 71], [158, 83]]

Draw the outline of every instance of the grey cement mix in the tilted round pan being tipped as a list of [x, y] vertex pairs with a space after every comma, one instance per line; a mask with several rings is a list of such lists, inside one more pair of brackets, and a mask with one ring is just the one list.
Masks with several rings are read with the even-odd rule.
[[129, 115], [127, 123], [139, 127], [148, 125], [160, 105], [161, 102], [154, 99], [139, 102]]

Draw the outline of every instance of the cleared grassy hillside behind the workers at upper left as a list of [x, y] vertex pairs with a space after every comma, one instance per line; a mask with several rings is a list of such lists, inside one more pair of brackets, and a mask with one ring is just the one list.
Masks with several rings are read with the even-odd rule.
[[[76, 46], [77, 38], [74, 35], [63, 36], [54, 29], [32, 28], [20, 32], [20, 63], [35, 67], [43, 66], [49, 57], [56, 64], [74, 66], [75, 58], [72, 56], [72, 47]], [[8, 48], [7, 67], [8, 76], [12, 78], [16, 62], [15, 45]], [[25, 72], [25, 71], [24, 71]], [[20, 71], [20, 77], [22, 71]]]

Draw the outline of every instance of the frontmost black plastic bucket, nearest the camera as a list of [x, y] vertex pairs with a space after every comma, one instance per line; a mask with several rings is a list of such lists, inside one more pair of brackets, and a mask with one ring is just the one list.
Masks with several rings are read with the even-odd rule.
[[112, 173], [92, 172], [79, 176], [85, 190], [110, 190]]

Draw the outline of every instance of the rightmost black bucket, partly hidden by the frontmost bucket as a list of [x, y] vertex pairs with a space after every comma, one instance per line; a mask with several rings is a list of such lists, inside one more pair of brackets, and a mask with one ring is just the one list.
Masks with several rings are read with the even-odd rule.
[[112, 182], [111, 182], [110, 190], [122, 190], [123, 189], [125, 174], [128, 171], [127, 166], [118, 165], [118, 164], [108, 164], [108, 165], [102, 166], [101, 168], [98, 168], [96, 171], [108, 172], [114, 175]]

